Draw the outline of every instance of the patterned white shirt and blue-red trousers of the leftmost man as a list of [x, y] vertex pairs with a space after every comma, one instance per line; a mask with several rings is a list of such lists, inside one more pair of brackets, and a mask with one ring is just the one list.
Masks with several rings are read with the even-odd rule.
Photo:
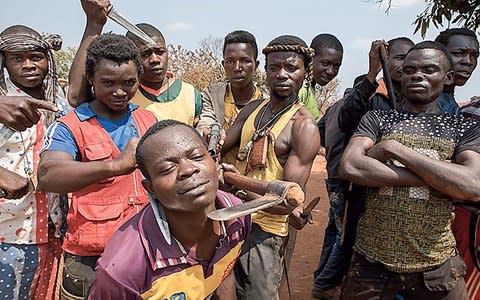
[[[7, 95], [26, 96], [9, 79]], [[60, 94], [55, 100], [68, 104]], [[61, 104], [61, 105], [60, 105]], [[0, 128], [4, 125], [0, 124]], [[0, 147], [0, 166], [29, 178], [36, 174], [44, 144], [45, 117], [15, 132]], [[31, 191], [20, 199], [0, 198], [0, 291], [8, 299], [53, 299], [64, 221], [60, 195]]]

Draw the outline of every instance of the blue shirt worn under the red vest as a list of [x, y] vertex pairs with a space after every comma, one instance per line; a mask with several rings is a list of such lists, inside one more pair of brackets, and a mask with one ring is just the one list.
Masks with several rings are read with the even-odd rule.
[[[90, 103], [83, 103], [75, 109], [75, 113], [81, 122], [91, 118], [97, 118], [103, 129], [108, 133], [118, 150], [122, 151], [132, 137], [138, 137], [137, 127], [132, 117], [132, 111], [138, 105], [129, 103], [128, 112], [119, 119], [111, 120], [103, 118], [90, 108]], [[75, 160], [80, 161], [80, 152], [70, 129], [61, 122], [53, 123], [47, 131], [45, 145], [42, 151], [62, 151], [70, 154]]]

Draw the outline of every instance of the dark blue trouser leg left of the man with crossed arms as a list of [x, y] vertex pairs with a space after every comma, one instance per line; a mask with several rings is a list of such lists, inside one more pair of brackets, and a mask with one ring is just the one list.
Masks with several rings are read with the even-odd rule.
[[341, 245], [342, 223], [345, 209], [345, 182], [327, 179], [330, 200], [328, 224], [325, 228], [322, 253], [314, 272], [314, 287], [328, 290], [341, 284], [346, 272], [343, 247]]

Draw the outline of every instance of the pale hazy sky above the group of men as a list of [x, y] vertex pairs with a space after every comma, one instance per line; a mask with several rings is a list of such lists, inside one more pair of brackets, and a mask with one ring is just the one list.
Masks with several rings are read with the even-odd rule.
[[[58, 33], [63, 47], [78, 47], [85, 28], [80, 0], [3, 0], [0, 31], [15, 24], [39, 32]], [[188, 49], [199, 47], [207, 37], [222, 38], [243, 29], [257, 39], [259, 49], [283, 34], [301, 37], [307, 44], [320, 33], [331, 33], [343, 44], [339, 93], [353, 79], [368, 71], [368, 51], [373, 40], [399, 36], [422, 40], [413, 35], [415, 17], [425, 9], [424, 0], [393, 0], [388, 15], [385, 7], [368, 0], [111, 0], [120, 14], [133, 23], [150, 23], [160, 29], [168, 44]], [[446, 28], [446, 27], [445, 27]], [[445, 29], [432, 27], [425, 39], [435, 39]], [[124, 34], [108, 20], [104, 31]], [[263, 61], [263, 60], [262, 60]], [[263, 63], [260, 66], [263, 68]], [[457, 87], [457, 101], [480, 95], [480, 71], [475, 70], [463, 87]]]

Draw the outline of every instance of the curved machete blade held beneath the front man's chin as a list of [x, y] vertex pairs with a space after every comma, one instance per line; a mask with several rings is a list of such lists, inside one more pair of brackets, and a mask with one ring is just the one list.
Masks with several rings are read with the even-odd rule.
[[275, 206], [283, 201], [284, 199], [280, 197], [264, 196], [236, 206], [211, 211], [207, 214], [207, 217], [216, 221], [233, 220], [235, 218], [246, 216], [259, 210]]

